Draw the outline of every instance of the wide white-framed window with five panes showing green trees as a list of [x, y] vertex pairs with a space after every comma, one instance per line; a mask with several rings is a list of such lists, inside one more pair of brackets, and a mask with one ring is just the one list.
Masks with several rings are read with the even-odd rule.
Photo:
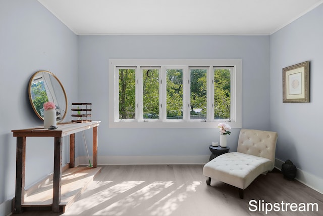
[[110, 59], [111, 127], [241, 127], [240, 59]]

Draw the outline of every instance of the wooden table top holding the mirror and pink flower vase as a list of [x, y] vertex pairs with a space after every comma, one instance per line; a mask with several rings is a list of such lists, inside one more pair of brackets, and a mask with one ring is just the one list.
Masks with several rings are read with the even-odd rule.
[[64, 137], [96, 127], [100, 124], [100, 122], [101, 121], [90, 121], [82, 123], [63, 122], [58, 123], [58, 128], [53, 130], [44, 128], [44, 126], [41, 125], [27, 129], [12, 130], [12, 132], [14, 133], [14, 137]]

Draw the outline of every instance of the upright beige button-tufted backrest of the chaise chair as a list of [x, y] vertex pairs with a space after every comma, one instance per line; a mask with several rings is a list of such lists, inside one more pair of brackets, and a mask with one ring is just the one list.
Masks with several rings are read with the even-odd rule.
[[268, 158], [275, 163], [277, 138], [276, 132], [241, 129], [237, 151]]

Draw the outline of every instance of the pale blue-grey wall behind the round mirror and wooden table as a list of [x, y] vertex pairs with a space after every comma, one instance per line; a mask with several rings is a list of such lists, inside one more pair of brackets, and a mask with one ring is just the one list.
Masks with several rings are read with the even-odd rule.
[[[69, 101], [77, 100], [78, 48], [77, 36], [36, 0], [1, 0], [0, 5], [0, 215], [4, 215], [8, 209], [3, 202], [15, 195], [16, 138], [11, 130], [42, 124], [29, 102], [29, 79], [38, 70], [51, 71], [63, 83]], [[66, 143], [63, 163], [69, 158]], [[53, 139], [27, 138], [26, 187], [52, 169]]]

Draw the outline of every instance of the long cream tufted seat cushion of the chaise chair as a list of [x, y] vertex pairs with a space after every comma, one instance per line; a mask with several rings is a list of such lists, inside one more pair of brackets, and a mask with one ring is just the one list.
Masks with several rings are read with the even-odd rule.
[[270, 159], [240, 152], [230, 152], [206, 163], [203, 167], [204, 176], [245, 189], [263, 172], [271, 170]]

